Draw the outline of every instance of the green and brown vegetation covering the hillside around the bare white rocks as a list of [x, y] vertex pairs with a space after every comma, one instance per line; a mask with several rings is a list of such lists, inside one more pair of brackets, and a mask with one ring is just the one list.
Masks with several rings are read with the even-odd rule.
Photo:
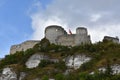
[[[54, 63], [47, 60], [42, 60], [37, 68], [27, 69], [25, 62], [35, 53], [44, 53], [51, 57], [60, 60]], [[69, 55], [85, 54], [92, 59], [82, 64], [82, 66], [70, 72], [67, 75], [64, 73], [67, 69], [63, 59]], [[40, 77], [42, 80], [55, 78], [55, 80], [120, 80], [120, 74], [113, 75], [110, 65], [120, 64], [120, 44], [115, 44], [111, 41], [97, 42], [95, 44], [86, 44], [74, 47], [50, 44], [47, 39], [42, 39], [32, 49], [16, 52], [15, 54], [6, 55], [0, 61], [0, 71], [4, 67], [13, 67], [15, 71], [26, 72], [25, 80], [32, 80]], [[99, 72], [98, 68], [106, 67], [106, 71]], [[90, 72], [95, 71], [94, 74]]]

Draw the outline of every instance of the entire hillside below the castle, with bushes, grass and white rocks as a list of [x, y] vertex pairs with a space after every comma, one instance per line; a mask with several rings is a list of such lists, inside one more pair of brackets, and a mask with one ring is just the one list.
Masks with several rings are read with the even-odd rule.
[[0, 80], [120, 80], [120, 44], [111, 41], [66, 47], [42, 40], [6, 55]]

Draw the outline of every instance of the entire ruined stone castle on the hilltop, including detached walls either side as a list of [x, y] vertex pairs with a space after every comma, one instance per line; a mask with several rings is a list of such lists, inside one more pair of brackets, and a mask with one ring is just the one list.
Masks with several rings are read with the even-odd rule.
[[[88, 35], [87, 29], [84, 27], [78, 27], [76, 34], [68, 34], [61, 26], [51, 25], [45, 28], [45, 38], [48, 39], [50, 43], [64, 46], [78, 46], [91, 43], [90, 35]], [[118, 38], [109, 36], [105, 36], [103, 40], [119, 43]], [[33, 48], [34, 45], [39, 42], [40, 40], [29, 40], [18, 45], [13, 45], [10, 48], [10, 54], [14, 54], [16, 51], [25, 51], [29, 48]]]

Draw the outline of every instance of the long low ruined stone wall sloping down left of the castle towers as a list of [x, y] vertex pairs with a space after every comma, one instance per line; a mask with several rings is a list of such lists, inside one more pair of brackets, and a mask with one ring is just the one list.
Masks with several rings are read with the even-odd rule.
[[25, 41], [25, 42], [18, 44], [18, 45], [13, 45], [10, 48], [10, 54], [14, 54], [16, 51], [25, 51], [29, 48], [33, 48], [33, 46], [39, 42], [40, 41], [29, 40], [29, 41]]

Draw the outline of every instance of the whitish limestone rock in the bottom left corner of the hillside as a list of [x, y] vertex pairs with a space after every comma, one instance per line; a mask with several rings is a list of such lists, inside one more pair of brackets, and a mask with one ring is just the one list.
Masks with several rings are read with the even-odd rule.
[[17, 74], [11, 68], [4, 68], [0, 80], [17, 80]]

